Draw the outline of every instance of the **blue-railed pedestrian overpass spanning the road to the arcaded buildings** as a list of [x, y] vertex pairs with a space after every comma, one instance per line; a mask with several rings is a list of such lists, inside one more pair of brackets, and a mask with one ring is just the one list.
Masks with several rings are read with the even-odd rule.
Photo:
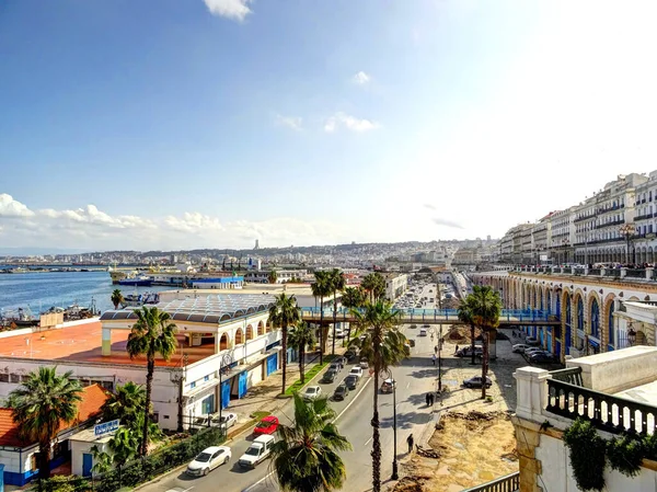
[[[320, 308], [300, 308], [301, 318], [309, 323], [322, 322]], [[351, 309], [338, 309], [336, 321], [355, 322]], [[364, 312], [364, 309], [358, 311]], [[401, 324], [466, 324], [459, 319], [457, 309], [397, 309]], [[333, 323], [333, 309], [324, 309], [323, 323]], [[561, 321], [550, 316], [548, 311], [538, 309], [503, 309], [499, 316], [500, 327], [561, 327]]]

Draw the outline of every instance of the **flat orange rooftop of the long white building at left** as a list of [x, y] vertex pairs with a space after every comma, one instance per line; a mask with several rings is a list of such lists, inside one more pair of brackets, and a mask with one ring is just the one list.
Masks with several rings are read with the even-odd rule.
[[[33, 358], [39, 361], [70, 361], [105, 364], [146, 364], [145, 357], [130, 359], [126, 353], [128, 330], [112, 330], [112, 355], [101, 353], [102, 327], [99, 321], [78, 324], [58, 330], [45, 330], [28, 335], [2, 339], [0, 357]], [[185, 345], [185, 335], [177, 334], [178, 350], [169, 361], [157, 358], [157, 366], [182, 366], [183, 355], [189, 364], [215, 353], [215, 346]], [[181, 348], [184, 346], [184, 348]], [[184, 354], [183, 354], [184, 352]]]

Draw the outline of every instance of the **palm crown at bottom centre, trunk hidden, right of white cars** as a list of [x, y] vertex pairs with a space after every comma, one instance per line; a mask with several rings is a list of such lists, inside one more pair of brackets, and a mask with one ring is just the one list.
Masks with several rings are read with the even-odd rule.
[[335, 411], [325, 398], [306, 402], [295, 394], [295, 424], [278, 427], [272, 465], [280, 488], [289, 492], [342, 489], [345, 464], [338, 451], [351, 449], [333, 423]]

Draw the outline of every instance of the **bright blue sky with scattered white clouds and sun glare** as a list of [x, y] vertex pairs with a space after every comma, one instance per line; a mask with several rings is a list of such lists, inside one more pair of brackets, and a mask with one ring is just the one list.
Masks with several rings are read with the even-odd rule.
[[656, 14], [3, 0], [0, 245], [499, 238], [657, 169]]

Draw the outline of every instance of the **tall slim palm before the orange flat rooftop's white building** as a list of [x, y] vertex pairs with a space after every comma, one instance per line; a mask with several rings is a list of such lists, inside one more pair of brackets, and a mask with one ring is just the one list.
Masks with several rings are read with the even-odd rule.
[[160, 311], [157, 307], [136, 309], [137, 322], [128, 335], [126, 350], [130, 358], [146, 355], [146, 400], [143, 405], [143, 427], [141, 433], [141, 456], [148, 454], [148, 432], [151, 423], [151, 392], [153, 388], [153, 373], [155, 370], [155, 356], [169, 361], [175, 353], [177, 340], [175, 339], [176, 325], [171, 322], [168, 312]]

